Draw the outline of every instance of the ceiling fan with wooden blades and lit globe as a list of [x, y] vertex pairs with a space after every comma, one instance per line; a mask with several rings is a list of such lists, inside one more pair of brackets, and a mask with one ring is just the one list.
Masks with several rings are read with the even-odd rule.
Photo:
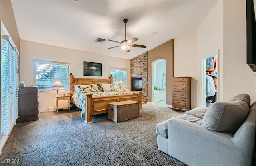
[[123, 22], [125, 23], [125, 40], [119, 42], [119, 41], [114, 41], [114, 40], [108, 39], [109, 41], [113, 41], [113, 42], [116, 42], [116, 43], [120, 43], [120, 45], [115, 46], [115, 47], [110, 47], [110, 48], [108, 48], [108, 49], [112, 49], [112, 48], [116, 48], [116, 47], [121, 47], [124, 51], [130, 52], [130, 47], [146, 48], [145, 45], [132, 44], [133, 42], [135, 42], [135, 41], [138, 40], [136, 37], [134, 37], [134, 38], [132, 38], [132, 39], [130, 39], [130, 40], [126, 40], [126, 23], [128, 22], [128, 19], [125, 18], [125, 19], [123, 20]]

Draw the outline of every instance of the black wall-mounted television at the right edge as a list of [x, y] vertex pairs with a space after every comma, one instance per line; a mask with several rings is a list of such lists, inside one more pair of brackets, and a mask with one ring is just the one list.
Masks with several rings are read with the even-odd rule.
[[254, 0], [246, 0], [246, 62], [256, 72], [256, 25]]

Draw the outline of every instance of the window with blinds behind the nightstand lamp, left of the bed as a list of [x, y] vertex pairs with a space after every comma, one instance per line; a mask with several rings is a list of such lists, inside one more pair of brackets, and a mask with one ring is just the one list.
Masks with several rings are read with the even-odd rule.
[[35, 61], [36, 65], [36, 86], [39, 90], [53, 90], [51, 87], [55, 81], [60, 81], [64, 87], [69, 89], [69, 66], [68, 63]]

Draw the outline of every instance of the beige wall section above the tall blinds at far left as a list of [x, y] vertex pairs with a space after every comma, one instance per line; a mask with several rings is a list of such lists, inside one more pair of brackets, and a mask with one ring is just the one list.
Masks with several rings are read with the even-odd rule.
[[12, 2], [10, 0], [0, 0], [0, 20], [4, 23], [17, 50], [20, 52], [20, 36], [12, 10]]

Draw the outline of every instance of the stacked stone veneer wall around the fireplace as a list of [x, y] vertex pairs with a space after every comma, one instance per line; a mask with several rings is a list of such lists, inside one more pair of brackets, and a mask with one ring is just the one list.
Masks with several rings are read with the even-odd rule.
[[[142, 77], [142, 103], [148, 102], [148, 52], [131, 59], [131, 77]], [[131, 83], [132, 85], [132, 83]], [[130, 87], [132, 88], [132, 87]]]

